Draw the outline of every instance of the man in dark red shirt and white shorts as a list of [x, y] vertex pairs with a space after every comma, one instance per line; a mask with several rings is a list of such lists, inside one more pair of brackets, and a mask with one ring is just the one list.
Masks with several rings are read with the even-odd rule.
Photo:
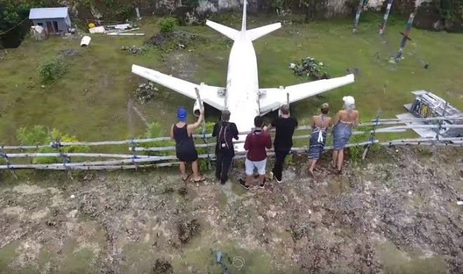
[[259, 173], [259, 186], [264, 188], [265, 166], [267, 165], [267, 151], [271, 149], [271, 137], [269, 133], [262, 130], [264, 118], [255, 116], [255, 128], [246, 136], [244, 149], [248, 151], [245, 160], [246, 166], [246, 181], [239, 180], [241, 186], [249, 189], [250, 184], [254, 184], [254, 169]]

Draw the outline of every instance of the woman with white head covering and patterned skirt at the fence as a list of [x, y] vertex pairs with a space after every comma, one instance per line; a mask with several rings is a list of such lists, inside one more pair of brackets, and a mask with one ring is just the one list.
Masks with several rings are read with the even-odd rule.
[[358, 124], [358, 111], [355, 109], [355, 100], [352, 96], [342, 97], [344, 108], [337, 112], [333, 128], [333, 168], [337, 172], [342, 170], [344, 160], [344, 146], [352, 134], [352, 127]]

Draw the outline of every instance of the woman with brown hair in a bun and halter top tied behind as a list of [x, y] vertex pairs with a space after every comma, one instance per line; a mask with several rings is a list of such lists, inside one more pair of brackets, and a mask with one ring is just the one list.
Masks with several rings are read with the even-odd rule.
[[312, 117], [312, 132], [309, 142], [309, 174], [314, 177], [316, 161], [320, 158], [326, 144], [326, 131], [331, 126], [331, 118], [328, 116], [330, 105], [321, 105], [321, 114]]

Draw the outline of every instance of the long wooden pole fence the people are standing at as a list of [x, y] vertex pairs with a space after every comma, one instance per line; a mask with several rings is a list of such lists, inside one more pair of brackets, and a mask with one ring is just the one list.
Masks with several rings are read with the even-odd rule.
[[[375, 119], [368, 123], [360, 123], [354, 128], [352, 135], [357, 137], [351, 139], [359, 139], [362, 135], [366, 135], [361, 142], [352, 142], [347, 144], [347, 147], [362, 146], [363, 158], [372, 145], [380, 146], [401, 146], [401, 145], [421, 145], [421, 146], [463, 146], [463, 137], [442, 137], [438, 132], [443, 128], [463, 128], [463, 125], [443, 124], [445, 120], [462, 121], [461, 117], [434, 117], [434, 118], [410, 118], [410, 119]], [[431, 122], [430, 124], [423, 124]], [[404, 123], [408, 123], [405, 125]], [[377, 134], [393, 133], [398, 135], [408, 130], [417, 128], [428, 128], [435, 130], [436, 137], [432, 138], [403, 138], [382, 140]], [[363, 130], [361, 130], [363, 129]], [[293, 139], [295, 144], [300, 143], [300, 140], [305, 140], [305, 146], [293, 147], [292, 151], [304, 152], [307, 151], [308, 140], [310, 137], [310, 126], [300, 126], [296, 129]], [[245, 135], [248, 132], [240, 132], [240, 135]], [[210, 134], [194, 135], [198, 144], [196, 148], [202, 149], [205, 153], [201, 153], [201, 159], [214, 159], [213, 148], [215, 147], [215, 138]], [[330, 137], [328, 137], [330, 139]], [[156, 137], [147, 139], [127, 139], [121, 141], [102, 141], [102, 142], [51, 142], [50, 144], [29, 145], [29, 146], [0, 146], [0, 159], [3, 158], [4, 165], [0, 165], [0, 170], [20, 170], [20, 169], [36, 169], [36, 170], [127, 170], [137, 169], [140, 167], [165, 167], [177, 165], [175, 157], [175, 146], [149, 146], [153, 142], [169, 141], [170, 137]], [[201, 141], [201, 143], [200, 143]], [[244, 140], [236, 141], [235, 144], [243, 143]], [[128, 146], [127, 154], [117, 153], [62, 153], [61, 149], [66, 146]], [[54, 153], [40, 153], [37, 150], [44, 148], [55, 149]], [[326, 146], [326, 151], [333, 149], [329, 145]], [[35, 152], [34, 152], [35, 151]], [[113, 150], [114, 151], [114, 150]], [[170, 155], [165, 155], [170, 154]], [[269, 156], [273, 156], [274, 151], [269, 150]], [[53, 157], [60, 158], [60, 163], [39, 164], [32, 163], [33, 158]], [[235, 158], [246, 157], [246, 152], [237, 152]], [[88, 160], [88, 158], [92, 160]], [[73, 161], [72, 161], [73, 160]], [[13, 163], [14, 162], [14, 163]], [[18, 163], [19, 162], [19, 163]], [[29, 162], [29, 163], [25, 163]]]

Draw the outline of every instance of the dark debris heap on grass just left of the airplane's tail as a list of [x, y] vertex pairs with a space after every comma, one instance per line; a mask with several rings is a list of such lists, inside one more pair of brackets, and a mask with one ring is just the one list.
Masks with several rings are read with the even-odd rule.
[[156, 46], [163, 51], [175, 49], [184, 49], [192, 46], [194, 43], [203, 43], [206, 41], [204, 36], [191, 34], [189, 32], [168, 32], [166, 34], [155, 34], [145, 41], [145, 44]]

